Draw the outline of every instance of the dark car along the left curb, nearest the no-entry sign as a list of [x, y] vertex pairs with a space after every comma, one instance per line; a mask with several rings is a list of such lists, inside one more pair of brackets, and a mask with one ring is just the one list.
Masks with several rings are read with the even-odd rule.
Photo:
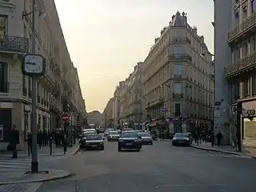
[[98, 149], [104, 150], [104, 142], [102, 136], [99, 134], [88, 134], [86, 138], [82, 140], [82, 148], [85, 150]]

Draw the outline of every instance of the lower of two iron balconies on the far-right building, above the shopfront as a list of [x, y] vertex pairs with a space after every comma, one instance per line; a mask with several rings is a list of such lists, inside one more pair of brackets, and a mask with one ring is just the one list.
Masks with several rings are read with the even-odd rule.
[[248, 70], [253, 70], [256, 66], [256, 52], [239, 59], [237, 62], [224, 67], [224, 77], [232, 78]]

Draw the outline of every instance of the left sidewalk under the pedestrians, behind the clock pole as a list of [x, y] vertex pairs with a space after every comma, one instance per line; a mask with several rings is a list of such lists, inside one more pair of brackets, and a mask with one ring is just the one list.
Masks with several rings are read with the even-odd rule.
[[[68, 146], [66, 148], [66, 154], [64, 154], [64, 148], [63, 146], [55, 147], [55, 144], [53, 143], [52, 148], [52, 156], [61, 156], [61, 155], [67, 155], [67, 154], [76, 154], [79, 150], [78, 141], [76, 144], [72, 147]], [[12, 151], [1, 151], [0, 157], [11, 157]], [[18, 151], [18, 156], [28, 156], [27, 150], [21, 150]], [[50, 146], [42, 146], [40, 149], [38, 147], [38, 156], [50, 156]]]

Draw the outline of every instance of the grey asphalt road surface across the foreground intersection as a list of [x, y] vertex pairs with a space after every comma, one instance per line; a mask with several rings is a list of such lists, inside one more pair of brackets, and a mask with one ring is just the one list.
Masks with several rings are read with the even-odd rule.
[[105, 151], [80, 151], [52, 158], [51, 166], [76, 175], [45, 182], [38, 192], [241, 192], [256, 189], [256, 161], [234, 155], [154, 142], [141, 152], [118, 152], [116, 142]]

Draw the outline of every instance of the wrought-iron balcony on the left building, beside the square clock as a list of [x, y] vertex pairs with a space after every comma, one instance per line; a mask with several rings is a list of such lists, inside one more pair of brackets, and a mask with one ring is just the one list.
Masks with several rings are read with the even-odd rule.
[[0, 34], [0, 51], [2, 50], [27, 53], [29, 50], [29, 39]]

